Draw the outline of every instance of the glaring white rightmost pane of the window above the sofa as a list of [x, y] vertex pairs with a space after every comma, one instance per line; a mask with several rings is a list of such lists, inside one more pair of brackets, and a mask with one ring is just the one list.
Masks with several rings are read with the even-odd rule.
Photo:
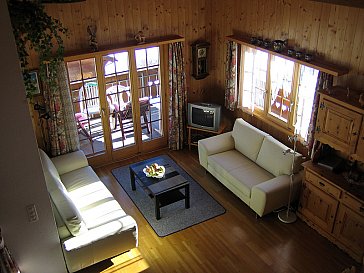
[[304, 65], [300, 67], [295, 131], [304, 140], [307, 140], [318, 73], [314, 68]]

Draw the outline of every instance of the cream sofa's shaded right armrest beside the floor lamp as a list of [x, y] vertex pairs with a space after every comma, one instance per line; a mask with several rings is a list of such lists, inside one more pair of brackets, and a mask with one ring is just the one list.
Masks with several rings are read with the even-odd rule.
[[[291, 203], [298, 197], [303, 171], [293, 175]], [[290, 176], [280, 175], [260, 183], [252, 188], [250, 207], [263, 216], [275, 209], [287, 206], [290, 187]]]

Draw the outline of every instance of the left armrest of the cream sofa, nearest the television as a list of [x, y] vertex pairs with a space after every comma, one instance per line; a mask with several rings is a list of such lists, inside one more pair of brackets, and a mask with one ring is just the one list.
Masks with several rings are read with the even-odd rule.
[[232, 150], [235, 142], [232, 132], [212, 136], [198, 141], [198, 158], [200, 164], [207, 169], [207, 157], [209, 155]]

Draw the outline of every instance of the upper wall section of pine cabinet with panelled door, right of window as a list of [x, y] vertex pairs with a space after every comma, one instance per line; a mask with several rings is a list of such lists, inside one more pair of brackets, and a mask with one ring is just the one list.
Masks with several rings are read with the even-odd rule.
[[361, 124], [361, 113], [321, 94], [315, 132], [317, 140], [348, 155], [354, 154]]

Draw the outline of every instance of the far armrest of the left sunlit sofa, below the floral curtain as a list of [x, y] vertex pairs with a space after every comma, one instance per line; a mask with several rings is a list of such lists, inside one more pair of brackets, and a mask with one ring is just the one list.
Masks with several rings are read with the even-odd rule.
[[51, 158], [59, 175], [87, 167], [88, 161], [82, 150]]

